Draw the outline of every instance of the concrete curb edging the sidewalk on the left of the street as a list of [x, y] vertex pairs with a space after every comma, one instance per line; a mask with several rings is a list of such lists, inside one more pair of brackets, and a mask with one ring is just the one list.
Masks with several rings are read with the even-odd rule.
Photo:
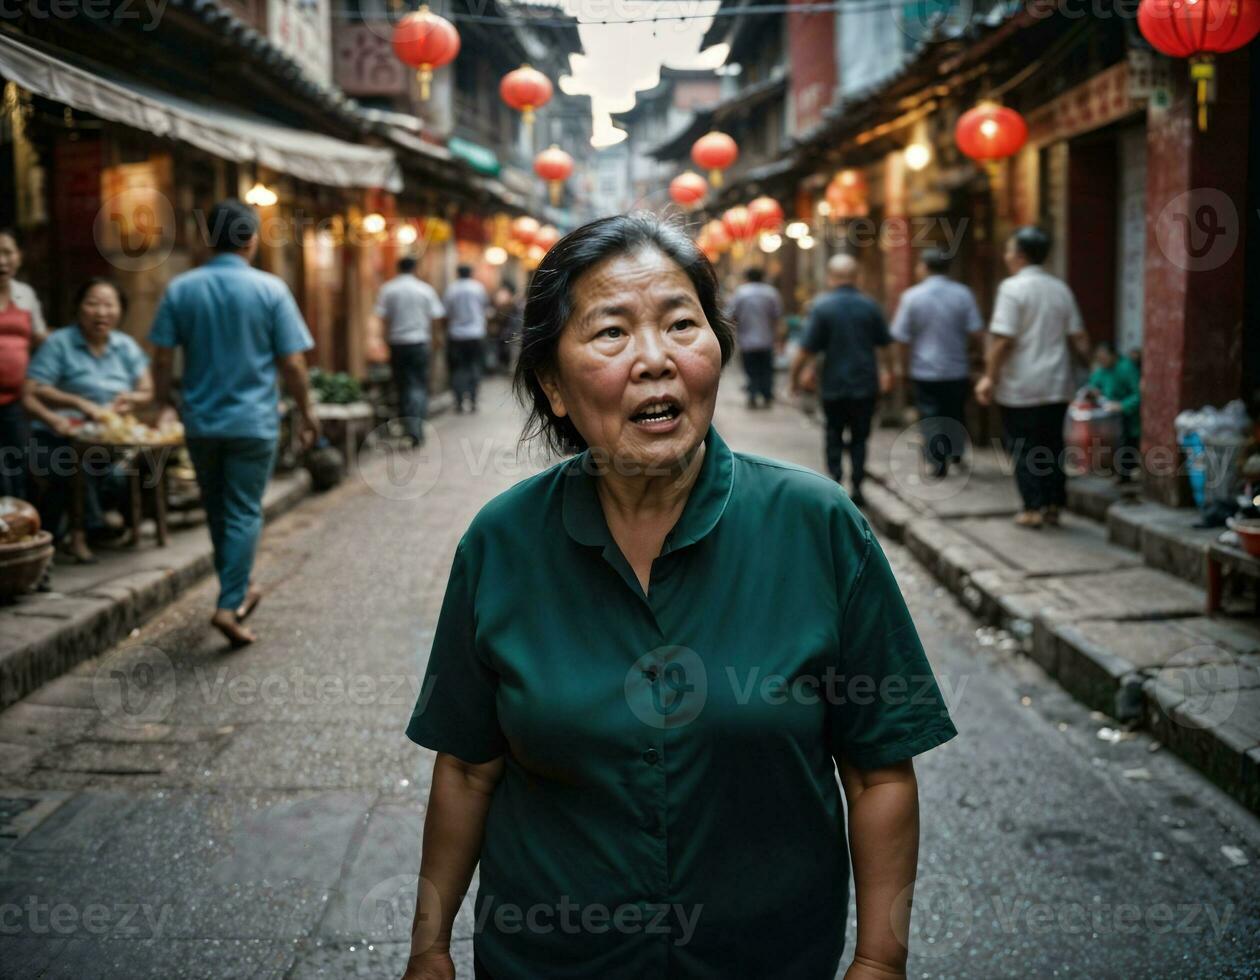
[[[310, 494], [310, 477], [302, 470], [272, 485], [278, 491], [263, 504], [268, 521], [292, 510]], [[131, 572], [58, 601], [52, 616], [19, 611], [14, 625], [20, 630], [23, 621], [29, 620], [30, 640], [0, 658], [0, 709], [107, 650], [213, 571], [214, 557], [207, 538], [204, 548], [169, 568]], [[49, 629], [49, 617], [59, 620], [59, 625]]]

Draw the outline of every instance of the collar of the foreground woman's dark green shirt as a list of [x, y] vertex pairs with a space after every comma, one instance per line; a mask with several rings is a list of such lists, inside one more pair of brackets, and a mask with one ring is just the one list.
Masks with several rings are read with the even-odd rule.
[[[717, 527], [731, 499], [735, 489], [735, 453], [712, 424], [704, 436], [704, 446], [701, 471], [678, 523], [665, 538], [662, 554], [701, 540]], [[592, 470], [590, 450], [575, 456], [564, 469], [564, 530], [578, 544], [607, 547], [612, 543], [612, 534], [600, 505], [595, 482], [598, 477]]]

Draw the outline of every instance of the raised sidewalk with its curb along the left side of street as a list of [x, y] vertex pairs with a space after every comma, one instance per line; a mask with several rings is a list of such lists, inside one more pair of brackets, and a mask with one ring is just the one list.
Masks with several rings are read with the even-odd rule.
[[[267, 520], [295, 506], [309, 486], [304, 470], [276, 476], [263, 496]], [[0, 708], [108, 649], [214, 571], [204, 520], [173, 514], [165, 548], [154, 543], [151, 521], [145, 529], [139, 548], [96, 548], [97, 564], [54, 559], [53, 592], [0, 605]]]

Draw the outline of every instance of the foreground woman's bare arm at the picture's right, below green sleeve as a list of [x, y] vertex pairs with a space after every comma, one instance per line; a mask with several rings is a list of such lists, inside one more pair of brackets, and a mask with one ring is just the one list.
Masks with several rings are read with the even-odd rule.
[[906, 975], [910, 898], [919, 867], [919, 783], [910, 760], [878, 770], [839, 761], [849, 807], [858, 936], [847, 977]]

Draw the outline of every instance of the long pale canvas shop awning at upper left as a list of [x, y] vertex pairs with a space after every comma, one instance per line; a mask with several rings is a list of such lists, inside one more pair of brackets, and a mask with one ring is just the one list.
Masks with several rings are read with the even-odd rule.
[[135, 79], [108, 78], [0, 34], [0, 74], [35, 94], [111, 122], [180, 140], [233, 162], [255, 162], [334, 188], [402, 190], [391, 150], [203, 105]]

